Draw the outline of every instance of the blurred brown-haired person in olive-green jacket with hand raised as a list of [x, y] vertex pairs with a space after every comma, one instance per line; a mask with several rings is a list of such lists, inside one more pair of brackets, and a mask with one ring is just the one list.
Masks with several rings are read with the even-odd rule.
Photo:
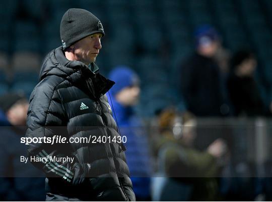
[[227, 153], [223, 139], [216, 139], [204, 151], [194, 148], [196, 120], [190, 113], [180, 116], [174, 109], [165, 110], [159, 118], [161, 138], [155, 152], [159, 168], [168, 177], [162, 186], [160, 200], [218, 200], [217, 177]]

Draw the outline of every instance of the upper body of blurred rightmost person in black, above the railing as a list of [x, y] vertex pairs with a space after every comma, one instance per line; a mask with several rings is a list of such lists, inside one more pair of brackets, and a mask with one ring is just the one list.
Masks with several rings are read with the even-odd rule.
[[239, 51], [232, 58], [232, 69], [227, 81], [234, 115], [265, 116], [269, 114], [254, 79], [257, 60], [250, 51]]

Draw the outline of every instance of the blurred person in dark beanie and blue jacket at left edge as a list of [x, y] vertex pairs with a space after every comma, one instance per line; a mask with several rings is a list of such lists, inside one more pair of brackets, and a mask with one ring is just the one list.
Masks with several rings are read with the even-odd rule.
[[[20, 161], [27, 156], [20, 138], [26, 132], [28, 100], [21, 93], [8, 93], [0, 97], [0, 109], [1, 126], [10, 126], [0, 129], [0, 200], [44, 200], [44, 178], [38, 178], [42, 173]], [[29, 177], [35, 175], [37, 178]]]

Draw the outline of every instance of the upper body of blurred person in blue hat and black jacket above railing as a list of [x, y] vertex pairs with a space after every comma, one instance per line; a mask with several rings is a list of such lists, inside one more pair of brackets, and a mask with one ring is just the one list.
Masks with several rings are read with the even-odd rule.
[[195, 31], [196, 50], [181, 66], [181, 93], [187, 109], [196, 116], [229, 113], [224, 104], [220, 69], [215, 55], [220, 47], [218, 32], [209, 25]]

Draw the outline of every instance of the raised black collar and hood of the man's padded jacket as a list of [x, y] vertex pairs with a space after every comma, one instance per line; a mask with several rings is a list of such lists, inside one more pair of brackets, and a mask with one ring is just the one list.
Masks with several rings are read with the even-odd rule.
[[104, 95], [115, 82], [105, 78], [99, 73], [99, 68], [95, 63], [87, 65], [79, 61], [70, 61], [65, 55], [62, 47], [54, 49], [43, 62], [40, 78], [49, 75], [57, 75], [69, 80], [75, 86], [83, 89], [93, 99], [99, 99]]

